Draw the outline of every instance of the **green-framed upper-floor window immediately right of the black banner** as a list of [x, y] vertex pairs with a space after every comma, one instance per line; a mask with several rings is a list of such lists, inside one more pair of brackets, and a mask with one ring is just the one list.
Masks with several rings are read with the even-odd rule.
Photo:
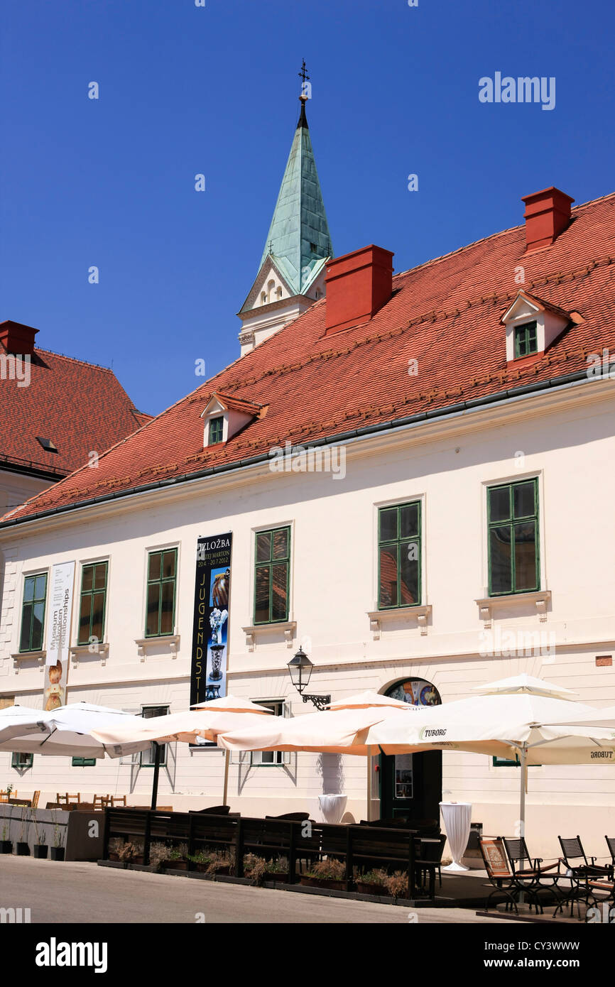
[[255, 532], [254, 622], [288, 620], [290, 526]]

